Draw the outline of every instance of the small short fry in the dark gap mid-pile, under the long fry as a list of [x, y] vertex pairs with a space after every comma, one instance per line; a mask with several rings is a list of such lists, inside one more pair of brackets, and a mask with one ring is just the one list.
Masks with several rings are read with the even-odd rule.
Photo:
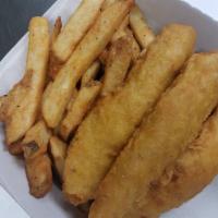
[[92, 81], [95, 80], [98, 71], [100, 69], [100, 61], [95, 61], [90, 68], [84, 73], [82, 80], [81, 80], [81, 85], [82, 87], [87, 86]]

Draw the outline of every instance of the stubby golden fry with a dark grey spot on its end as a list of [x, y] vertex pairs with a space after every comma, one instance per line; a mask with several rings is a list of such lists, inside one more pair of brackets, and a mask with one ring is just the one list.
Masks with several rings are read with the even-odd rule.
[[22, 142], [25, 159], [34, 159], [47, 153], [51, 133], [44, 121], [37, 122], [31, 128]]

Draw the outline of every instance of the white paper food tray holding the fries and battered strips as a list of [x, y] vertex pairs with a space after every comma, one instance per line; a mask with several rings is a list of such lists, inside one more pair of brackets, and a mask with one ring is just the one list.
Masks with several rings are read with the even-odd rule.
[[[57, 16], [63, 22], [76, 9], [81, 0], [58, 0], [45, 14], [50, 23]], [[190, 24], [197, 31], [197, 51], [218, 49], [218, 23], [191, 5], [179, 0], [138, 0], [148, 23], [155, 31], [159, 31], [169, 23]], [[17, 45], [0, 62], [0, 95], [16, 83], [24, 73], [27, 48], [25, 35]], [[32, 218], [81, 218], [80, 211], [64, 203], [61, 191], [53, 185], [52, 192], [43, 199], [35, 199], [28, 194], [28, 185], [21, 159], [8, 154], [3, 144], [3, 129], [0, 126], [0, 184], [17, 202]], [[217, 218], [218, 217], [218, 178], [214, 180], [201, 194], [173, 209], [164, 218]]]

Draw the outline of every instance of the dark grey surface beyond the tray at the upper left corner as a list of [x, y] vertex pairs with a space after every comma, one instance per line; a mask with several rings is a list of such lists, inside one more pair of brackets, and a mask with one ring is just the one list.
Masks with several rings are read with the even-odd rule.
[[41, 15], [56, 0], [0, 0], [0, 60], [26, 33], [32, 16]]

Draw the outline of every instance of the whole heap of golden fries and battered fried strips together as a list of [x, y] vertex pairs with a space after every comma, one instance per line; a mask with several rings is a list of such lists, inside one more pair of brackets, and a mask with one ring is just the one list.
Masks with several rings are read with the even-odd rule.
[[191, 26], [156, 36], [134, 0], [82, 0], [51, 34], [33, 17], [28, 38], [0, 121], [33, 196], [55, 173], [69, 203], [95, 199], [90, 218], [153, 218], [218, 173], [218, 53], [193, 55]]

